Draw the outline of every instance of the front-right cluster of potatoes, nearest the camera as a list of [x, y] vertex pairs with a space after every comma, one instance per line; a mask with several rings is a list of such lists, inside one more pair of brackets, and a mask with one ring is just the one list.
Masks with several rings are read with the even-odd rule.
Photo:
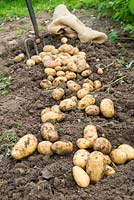
[[[79, 150], [73, 156], [73, 177], [80, 187], [88, 187], [90, 183], [97, 183], [104, 175], [115, 174], [115, 169], [110, 164], [124, 164], [134, 159], [134, 148], [122, 144], [112, 150], [110, 141], [98, 137], [94, 125], [84, 128], [83, 138], [76, 141]], [[90, 150], [90, 151], [89, 151]]]

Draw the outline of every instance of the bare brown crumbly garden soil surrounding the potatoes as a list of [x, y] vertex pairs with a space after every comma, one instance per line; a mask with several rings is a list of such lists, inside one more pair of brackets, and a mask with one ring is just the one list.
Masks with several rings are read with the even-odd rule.
[[[116, 44], [109, 41], [104, 44], [81, 44], [79, 40], [69, 40], [70, 44], [86, 52], [87, 62], [93, 73], [91, 80], [99, 79], [103, 87], [96, 90], [97, 105], [101, 99], [111, 98], [115, 104], [115, 116], [106, 119], [102, 115], [89, 117], [84, 112], [73, 110], [66, 113], [65, 120], [56, 123], [60, 139], [73, 142], [73, 153], [65, 156], [51, 157], [40, 155], [37, 151], [20, 161], [0, 152], [0, 200], [133, 200], [134, 199], [134, 160], [124, 165], [114, 166], [116, 174], [103, 177], [97, 184], [91, 184], [83, 189], [76, 185], [72, 177], [72, 157], [78, 149], [76, 139], [82, 137], [83, 129], [88, 124], [97, 126], [99, 136], [108, 138], [113, 148], [122, 143], [134, 146], [134, 71], [126, 68], [126, 64], [134, 58], [134, 44], [128, 40], [118, 24], [106, 18], [98, 20], [94, 12], [84, 10], [75, 14], [93, 29], [109, 33], [116, 30], [120, 40]], [[38, 22], [45, 27], [51, 15], [41, 13]], [[31, 69], [25, 61], [14, 63], [13, 58], [19, 52], [24, 52], [23, 40], [28, 33], [18, 36], [17, 29], [32, 30], [28, 18], [9, 20], [0, 31], [0, 70], [12, 77], [10, 93], [0, 96], [0, 134], [12, 129], [17, 138], [27, 133], [33, 133], [39, 141], [40, 113], [48, 106], [57, 104], [52, 99], [51, 90], [43, 90], [39, 83], [45, 77], [43, 65]], [[46, 44], [59, 46], [60, 37], [42, 31]], [[124, 34], [124, 35], [123, 35]], [[118, 59], [123, 56], [125, 64], [117, 68]], [[104, 67], [104, 74], [97, 75], [96, 66]], [[118, 81], [121, 76], [124, 81]], [[80, 79], [80, 77], [78, 77]], [[67, 89], [66, 97], [70, 96]], [[58, 102], [59, 103], [59, 102]], [[21, 124], [21, 125], [20, 125]]]

